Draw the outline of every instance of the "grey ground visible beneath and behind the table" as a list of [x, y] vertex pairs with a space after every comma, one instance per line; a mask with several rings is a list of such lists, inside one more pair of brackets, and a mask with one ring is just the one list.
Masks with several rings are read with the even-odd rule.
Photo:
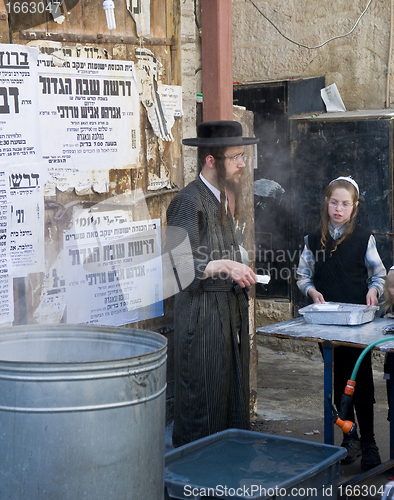
[[[299, 343], [298, 347], [297, 345], [292, 347], [295, 352], [289, 352], [286, 343], [258, 336], [257, 418], [252, 423], [252, 429], [267, 434], [323, 443], [324, 364], [317, 344], [301, 341]], [[310, 345], [305, 347], [305, 344]], [[373, 366], [376, 399], [375, 436], [384, 462], [389, 459], [390, 450], [383, 357], [378, 356]], [[340, 446], [342, 432], [337, 427], [334, 439], [334, 444]], [[360, 459], [352, 464], [341, 465], [339, 484], [344, 484], [360, 474]], [[371, 488], [371, 485], [379, 490], [393, 478], [394, 471], [389, 470], [363, 481], [361, 484], [365, 485], [365, 489], [359, 498], [381, 498], [378, 492], [373, 494], [375, 488]], [[356, 498], [357, 495], [353, 497]]]

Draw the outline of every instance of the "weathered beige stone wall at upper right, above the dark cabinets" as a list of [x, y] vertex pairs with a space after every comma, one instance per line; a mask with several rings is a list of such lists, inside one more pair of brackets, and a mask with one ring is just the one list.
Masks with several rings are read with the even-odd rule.
[[[348, 33], [368, 0], [254, 3], [284, 35], [313, 47]], [[349, 111], [386, 106], [390, 2], [373, 1], [352, 34], [318, 49], [299, 47], [286, 40], [249, 0], [233, 0], [232, 5], [234, 81], [325, 76], [326, 85], [336, 83]], [[391, 107], [394, 82], [389, 85]]]

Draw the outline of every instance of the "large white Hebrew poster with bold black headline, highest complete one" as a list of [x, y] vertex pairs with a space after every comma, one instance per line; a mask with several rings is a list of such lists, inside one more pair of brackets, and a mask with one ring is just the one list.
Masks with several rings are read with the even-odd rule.
[[[132, 61], [38, 57], [39, 128], [48, 168], [131, 168], [139, 155]], [[60, 64], [60, 65], [56, 65]]]

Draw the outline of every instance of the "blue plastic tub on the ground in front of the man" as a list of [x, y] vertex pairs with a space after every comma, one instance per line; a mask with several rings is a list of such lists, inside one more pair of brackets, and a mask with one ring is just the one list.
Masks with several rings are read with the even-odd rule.
[[228, 429], [166, 453], [167, 499], [337, 498], [346, 450]]

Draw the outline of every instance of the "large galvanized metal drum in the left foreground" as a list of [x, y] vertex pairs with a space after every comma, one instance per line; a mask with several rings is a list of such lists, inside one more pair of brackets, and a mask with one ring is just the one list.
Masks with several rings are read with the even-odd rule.
[[166, 358], [148, 331], [2, 328], [0, 499], [162, 499]]

